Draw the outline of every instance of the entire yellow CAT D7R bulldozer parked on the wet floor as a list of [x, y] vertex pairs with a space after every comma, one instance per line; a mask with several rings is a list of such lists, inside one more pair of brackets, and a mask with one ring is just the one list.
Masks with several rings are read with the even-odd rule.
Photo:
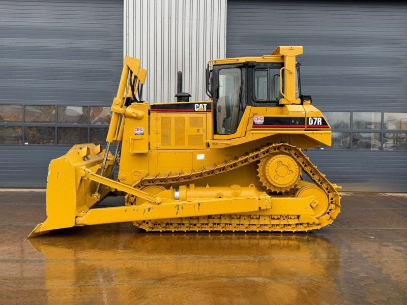
[[[147, 231], [309, 231], [332, 224], [337, 187], [303, 149], [331, 145], [301, 95], [301, 46], [211, 60], [208, 101], [141, 101], [147, 71], [125, 57], [106, 149], [76, 144], [49, 165], [47, 220], [29, 235], [133, 222]], [[180, 101], [181, 100], [181, 101]], [[112, 144], [115, 144], [113, 149]], [[112, 149], [113, 153], [110, 153]], [[97, 207], [107, 196], [123, 206]]]

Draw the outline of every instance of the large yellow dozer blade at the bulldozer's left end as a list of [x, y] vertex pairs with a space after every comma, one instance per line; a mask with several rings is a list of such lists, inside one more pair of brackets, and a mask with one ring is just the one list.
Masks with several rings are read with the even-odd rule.
[[[95, 193], [98, 184], [82, 179], [84, 169], [100, 172], [104, 154], [100, 145], [76, 144], [66, 155], [51, 161], [46, 193], [47, 220], [37, 225], [28, 237], [73, 227], [76, 216], [84, 214], [107, 195], [109, 188], [102, 186], [99, 194], [91, 197], [89, 194]], [[110, 174], [112, 160], [113, 156], [108, 153], [106, 176]]]

